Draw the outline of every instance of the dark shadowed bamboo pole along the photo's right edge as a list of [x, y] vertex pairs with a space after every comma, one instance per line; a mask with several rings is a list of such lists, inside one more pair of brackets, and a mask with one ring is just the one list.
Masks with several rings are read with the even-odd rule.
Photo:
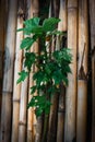
[[95, 1], [90, 0], [90, 28], [92, 49], [92, 142], [95, 141]]

